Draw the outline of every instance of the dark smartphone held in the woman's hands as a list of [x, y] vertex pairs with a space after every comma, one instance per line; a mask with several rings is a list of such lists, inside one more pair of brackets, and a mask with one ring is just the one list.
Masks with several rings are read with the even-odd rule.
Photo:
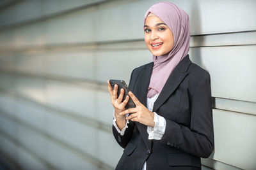
[[[124, 80], [113, 80], [113, 79], [111, 79], [111, 80], [109, 80], [109, 83], [110, 83], [112, 89], [114, 89], [115, 84], [118, 85], [117, 97], [120, 95], [121, 89], [124, 89], [124, 97], [123, 97], [122, 101], [125, 100], [126, 96], [129, 96], [129, 94], [128, 94], [129, 89], [128, 89]], [[129, 101], [125, 106], [125, 109], [129, 109], [129, 108], [135, 108], [135, 104], [132, 101], [130, 96], [129, 96]]]

